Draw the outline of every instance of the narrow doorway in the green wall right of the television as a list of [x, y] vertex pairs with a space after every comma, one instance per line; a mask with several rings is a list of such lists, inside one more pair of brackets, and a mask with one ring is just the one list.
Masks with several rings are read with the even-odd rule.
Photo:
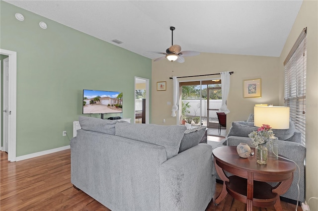
[[135, 77], [135, 123], [149, 124], [149, 79]]

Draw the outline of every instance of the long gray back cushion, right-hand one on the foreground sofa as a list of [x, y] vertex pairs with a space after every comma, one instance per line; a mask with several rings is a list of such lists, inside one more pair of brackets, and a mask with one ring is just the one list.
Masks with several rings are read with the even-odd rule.
[[115, 135], [165, 148], [167, 159], [176, 156], [186, 127], [183, 125], [130, 124], [117, 122]]

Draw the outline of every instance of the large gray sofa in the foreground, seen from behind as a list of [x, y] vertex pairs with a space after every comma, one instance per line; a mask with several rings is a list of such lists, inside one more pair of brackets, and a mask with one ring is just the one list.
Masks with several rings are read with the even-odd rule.
[[[112, 211], [202, 211], [215, 191], [205, 129], [79, 117], [71, 182]], [[193, 141], [195, 140], [195, 141]], [[183, 144], [181, 143], [183, 142]], [[180, 147], [181, 146], [181, 147]]]

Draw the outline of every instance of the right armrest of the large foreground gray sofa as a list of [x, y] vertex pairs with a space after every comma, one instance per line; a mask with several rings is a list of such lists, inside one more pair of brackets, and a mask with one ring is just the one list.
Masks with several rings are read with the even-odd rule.
[[163, 162], [160, 210], [205, 210], [215, 191], [212, 158], [212, 147], [199, 144]]

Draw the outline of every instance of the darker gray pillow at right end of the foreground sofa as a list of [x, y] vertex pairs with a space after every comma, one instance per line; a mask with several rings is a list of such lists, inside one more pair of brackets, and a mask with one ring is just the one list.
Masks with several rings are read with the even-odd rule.
[[202, 140], [205, 130], [205, 127], [195, 127], [184, 131], [184, 135], [180, 143], [179, 153], [199, 144]]

